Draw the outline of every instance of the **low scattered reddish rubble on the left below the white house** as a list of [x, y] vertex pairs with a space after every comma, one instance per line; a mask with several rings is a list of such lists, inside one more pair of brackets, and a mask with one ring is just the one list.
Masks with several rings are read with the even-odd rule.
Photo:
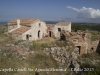
[[29, 46], [32, 44], [31, 41], [21, 41], [21, 42], [8, 42], [0, 44], [0, 51], [10, 51], [13, 54], [27, 55], [31, 53]]

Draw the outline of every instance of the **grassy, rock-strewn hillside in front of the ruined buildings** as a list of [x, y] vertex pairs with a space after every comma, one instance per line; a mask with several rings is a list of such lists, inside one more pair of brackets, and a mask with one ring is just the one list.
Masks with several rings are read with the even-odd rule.
[[[84, 31], [92, 33], [91, 40], [98, 40], [100, 32], [95, 28], [99, 25], [86, 26]], [[0, 75], [100, 75], [97, 52], [80, 56], [70, 40], [46, 37], [38, 41], [16, 41], [5, 32], [7, 26], [0, 25]], [[79, 67], [78, 72], [73, 69]]]

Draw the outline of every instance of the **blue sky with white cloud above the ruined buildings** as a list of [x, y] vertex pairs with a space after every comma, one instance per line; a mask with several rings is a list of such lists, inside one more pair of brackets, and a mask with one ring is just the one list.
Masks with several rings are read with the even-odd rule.
[[0, 0], [0, 22], [16, 18], [100, 23], [100, 0]]

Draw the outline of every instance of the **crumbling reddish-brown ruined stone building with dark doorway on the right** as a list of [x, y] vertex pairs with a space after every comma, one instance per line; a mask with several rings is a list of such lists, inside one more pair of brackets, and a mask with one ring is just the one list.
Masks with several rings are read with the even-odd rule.
[[97, 49], [98, 40], [91, 41], [90, 33], [85, 33], [83, 31], [68, 32], [62, 30], [61, 34], [63, 34], [66, 39], [69, 39], [76, 47], [80, 47], [80, 55], [95, 52]]

